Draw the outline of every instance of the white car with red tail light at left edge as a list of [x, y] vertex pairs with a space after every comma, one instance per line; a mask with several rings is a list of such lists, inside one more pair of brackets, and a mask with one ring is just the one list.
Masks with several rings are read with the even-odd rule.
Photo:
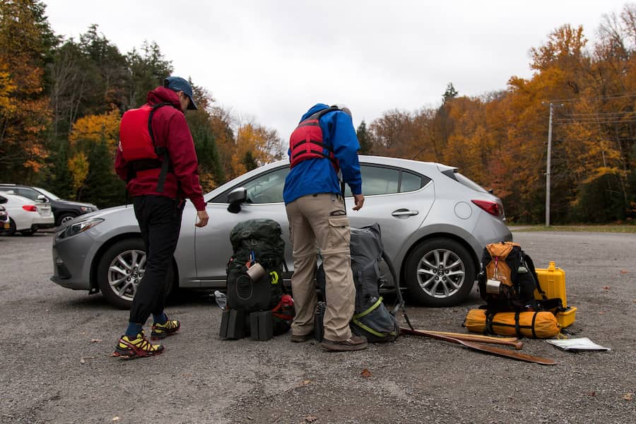
[[4, 206], [9, 216], [9, 228], [4, 232], [5, 235], [14, 235], [16, 232], [22, 235], [33, 235], [40, 228], [55, 226], [55, 218], [51, 205], [48, 203], [35, 202], [6, 192], [0, 194], [0, 204]]

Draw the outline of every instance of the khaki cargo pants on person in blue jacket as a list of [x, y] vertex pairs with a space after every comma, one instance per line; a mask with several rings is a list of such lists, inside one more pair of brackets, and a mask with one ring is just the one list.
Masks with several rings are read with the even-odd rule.
[[286, 206], [294, 252], [292, 291], [296, 316], [292, 334], [314, 331], [318, 301], [314, 272], [317, 254], [325, 273], [326, 310], [324, 338], [343, 341], [351, 337], [349, 322], [355, 307], [351, 271], [351, 228], [344, 201], [338, 194], [309, 194]]

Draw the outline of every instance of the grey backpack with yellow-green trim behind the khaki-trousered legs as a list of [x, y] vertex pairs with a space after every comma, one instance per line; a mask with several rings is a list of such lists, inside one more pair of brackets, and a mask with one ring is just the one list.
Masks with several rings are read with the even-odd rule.
[[[396, 305], [389, 310], [379, 294], [386, 282], [379, 269], [380, 261], [387, 264], [396, 284]], [[363, 228], [351, 228], [351, 268], [355, 283], [355, 310], [351, 319], [351, 331], [365, 336], [371, 342], [394, 341], [400, 334], [396, 313], [404, 306], [391, 259], [384, 253], [378, 223]], [[324, 270], [317, 276], [319, 288], [324, 293]], [[317, 316], [322, 317], [325, 305], [319, 305]], [[316, 323], [317, 338], [322, 338], [322, 322]]]

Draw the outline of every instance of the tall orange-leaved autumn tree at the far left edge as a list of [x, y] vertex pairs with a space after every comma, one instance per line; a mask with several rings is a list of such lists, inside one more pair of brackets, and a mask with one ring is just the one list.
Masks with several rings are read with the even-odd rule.
[[56, 42], [35, 0], [0, 0], [0, 178], [32, 180], [42, 170], [50, 120], [45, 66]]

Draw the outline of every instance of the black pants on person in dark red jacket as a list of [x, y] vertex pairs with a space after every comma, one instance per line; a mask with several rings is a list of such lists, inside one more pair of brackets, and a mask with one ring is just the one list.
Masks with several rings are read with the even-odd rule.
[[146, 273], [130, 308], [130, 322], [146, 324], [151, 314], [163, 312], [184, 202], [178, 205], [175, 199], [165, 196], [136, 196], [133, 205], [146, 246]]

